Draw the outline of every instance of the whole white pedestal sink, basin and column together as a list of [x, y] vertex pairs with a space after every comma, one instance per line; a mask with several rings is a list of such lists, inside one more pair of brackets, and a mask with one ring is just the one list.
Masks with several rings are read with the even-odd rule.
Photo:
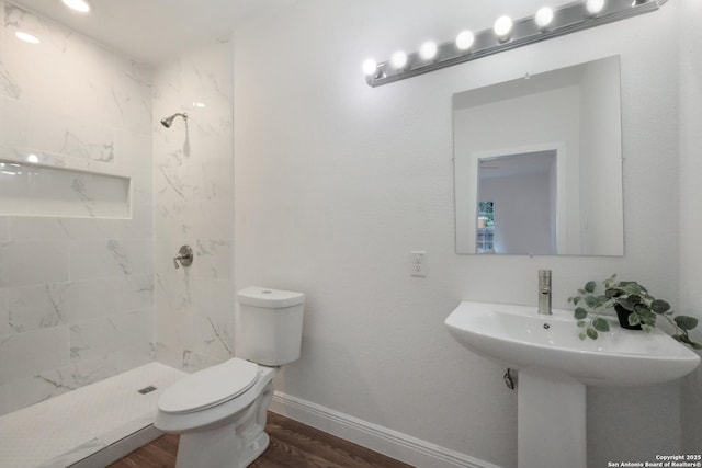
[[587, 468], [585, 387], [637, 386], [680, 378], [700, 356], [659, 330], [614, 321], [597, 341], [578, 338], [573, 312], [464, 301], [445, 324], [465, 347], [519, 370], [519, 468]]

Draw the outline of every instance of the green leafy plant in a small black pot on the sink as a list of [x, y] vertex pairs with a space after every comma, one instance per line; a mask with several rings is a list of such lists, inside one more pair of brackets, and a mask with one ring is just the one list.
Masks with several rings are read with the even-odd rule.
[[646, 287], [636, 282], [618, 281], [616, 275], [610, 276], [601, 284], [590, 281], [582, 289], [578, 289], [576, 296], [569, 297], [568, 303], [576, 306], [574, 316], [578, 321], [578, 328], [581, 329], [581, 340], [597, 340], [598, 332], [608, 332], [610, 322], [602, 315], [614, 309], [621, 313], [629, 313], [630, 328], [639, 326], [647, 332], [656, 327], [658, 318], [663, 318], [673, 327], [673, 339], [694, 350], [702, 350], [702, 344], [692, 341], [688, 334], [698, 326], [698, 319], [676, 316], [670, 304], [656, 299]]

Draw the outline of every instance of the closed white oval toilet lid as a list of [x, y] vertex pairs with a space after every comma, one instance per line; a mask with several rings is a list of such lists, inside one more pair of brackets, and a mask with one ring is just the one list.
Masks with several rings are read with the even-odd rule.
[[178, 380], [160, 396], [158, 408], [185, 413], [224, 403], [251, 388], [258, 372], [258, 364], [235, 357]]

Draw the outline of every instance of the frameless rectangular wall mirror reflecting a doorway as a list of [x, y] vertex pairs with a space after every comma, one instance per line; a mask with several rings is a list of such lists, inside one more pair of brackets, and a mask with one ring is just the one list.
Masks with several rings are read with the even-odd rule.
[[623, 255], [619, 56], [453, 95], [456, 253]]

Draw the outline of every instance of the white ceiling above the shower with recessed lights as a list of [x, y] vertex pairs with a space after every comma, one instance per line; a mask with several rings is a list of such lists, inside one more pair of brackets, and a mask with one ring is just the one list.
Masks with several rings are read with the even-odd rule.
[[137, 61], [160, 64], [179, 53], [228, 37], [297, 0], [89, 0], [88, 14], [60, 0], [9, 0], [118, 50]]

